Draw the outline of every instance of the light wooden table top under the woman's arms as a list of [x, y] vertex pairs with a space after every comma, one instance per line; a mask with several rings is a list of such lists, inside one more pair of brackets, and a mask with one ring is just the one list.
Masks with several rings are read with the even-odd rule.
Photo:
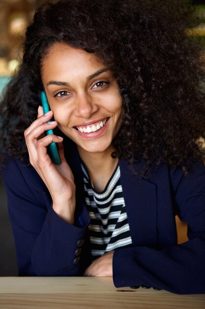
[[115, 288], [102, 277], [0, 277], [0, 309], [205, 309], [205, 294]]

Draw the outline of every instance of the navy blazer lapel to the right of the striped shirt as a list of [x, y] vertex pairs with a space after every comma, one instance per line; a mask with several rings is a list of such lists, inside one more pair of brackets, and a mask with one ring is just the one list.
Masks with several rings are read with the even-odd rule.
[[125, 160], [120, 159], [119, 166], [132, 244], [156, 247], [156, 186], [143, 179], [141, 175], [133, 175]]

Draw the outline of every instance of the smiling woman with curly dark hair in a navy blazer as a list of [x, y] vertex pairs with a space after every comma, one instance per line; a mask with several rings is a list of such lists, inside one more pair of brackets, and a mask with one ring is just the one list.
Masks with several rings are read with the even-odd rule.
[[[37, 9], [0, 114], [20, 275], [205, 293], [205, 105], [190, 14], [158, 0]], [[189, 226], [181, 245], [176, 214]]]

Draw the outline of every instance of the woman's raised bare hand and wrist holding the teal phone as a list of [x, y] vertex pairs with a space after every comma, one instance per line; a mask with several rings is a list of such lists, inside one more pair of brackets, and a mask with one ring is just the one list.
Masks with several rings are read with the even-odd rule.
[[[54, 129], [57, 126], [57, 121], [47, 123], [52, 116], [52, 111], [43, 115], [43, 109], [39, 107], [38, 118], [25, 130], [29, 161], [51, 194], [54, 211], [61, 219], [73, 224], [75, 184], [72, 171], [64, 157], [63, 139], [53, 134], [45, 136], [46, 130]], [[52, 142], [58, 143], [60, 165], [55, 165], [47, 154], [47, 146]]]

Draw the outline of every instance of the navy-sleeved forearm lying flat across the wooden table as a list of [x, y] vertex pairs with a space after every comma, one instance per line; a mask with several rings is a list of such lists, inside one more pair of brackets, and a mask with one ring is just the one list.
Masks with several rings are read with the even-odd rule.
[[177, 294], [205, 293], [205, 238], [154, 250], [116, 250], [113, 279], [117, 287], [146, 285]]

